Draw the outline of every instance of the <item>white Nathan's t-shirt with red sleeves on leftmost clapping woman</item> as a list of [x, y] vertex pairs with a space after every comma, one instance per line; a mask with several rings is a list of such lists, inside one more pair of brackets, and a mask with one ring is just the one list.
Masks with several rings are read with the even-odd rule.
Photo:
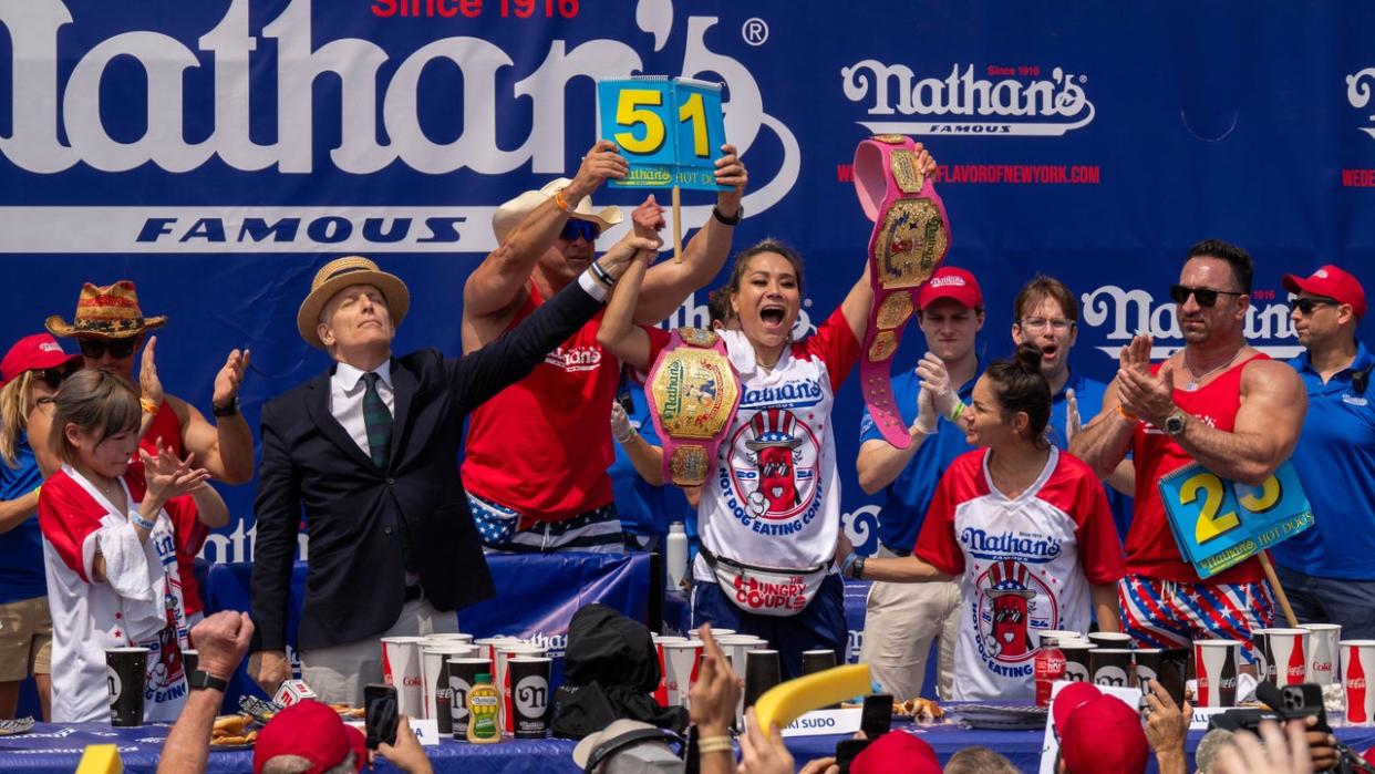
[[[138, 509], [144, 496], [142, 463], [131, 465], [121, 484], [131, 509]], [[140, 543], [129, 520], [70, 466], [43, 484], [38, 525], [52, 612], [54, 722], [109, 722], [114, 678], [104, 649], [125, 646], [150, 649], [144, 720], [180, 715], [187, 624], [176, 540], [166, 509], [154, 524]], [[104, 555], [104, 583], [91, 577], [96, 553]]]

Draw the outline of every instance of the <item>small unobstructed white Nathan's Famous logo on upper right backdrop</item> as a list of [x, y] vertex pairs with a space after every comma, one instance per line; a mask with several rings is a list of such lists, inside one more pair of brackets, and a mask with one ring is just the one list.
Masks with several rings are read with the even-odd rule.
[[[987, 76], [987, 77], [982, 77]], [[1057, 137], [1093, 121], [1086, 76], [1062, 67], [952, 65], [946, 77], [918, 77], [906, 65], [864, 59], [840, 69], [850, 102], [868, 104], [859, 121], [876, 135], [1030, 135]], [[917, 118], [909, 118], [917, 117]]]

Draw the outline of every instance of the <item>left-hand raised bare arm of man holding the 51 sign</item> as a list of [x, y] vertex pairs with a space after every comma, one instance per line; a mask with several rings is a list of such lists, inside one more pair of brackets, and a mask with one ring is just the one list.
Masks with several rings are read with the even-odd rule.
[[[561, 191], [565, 208], [590, 197], [608, 177], [624, 177], [630, 169], [616, 144], [598, 140], [587, 151], [578, 175]], [[502, 243], [488, 253], [463, 285], [463, 316], [484, 318], [500, 315], [522, 298], [525, 282], [539, 257], [554, 243], [568, 221], [566, 209], [560, 209], [556, 198], [540, 203], [525, 216]]]

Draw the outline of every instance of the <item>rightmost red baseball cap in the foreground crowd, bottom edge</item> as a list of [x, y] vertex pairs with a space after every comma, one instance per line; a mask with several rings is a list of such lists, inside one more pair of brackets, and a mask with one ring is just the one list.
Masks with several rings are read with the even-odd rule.
[[1140, 774], [1151, 756], [1141, 716], [1090, 683], [1070, 683], [1050, 705], [1060, 758], [1074, 774]]

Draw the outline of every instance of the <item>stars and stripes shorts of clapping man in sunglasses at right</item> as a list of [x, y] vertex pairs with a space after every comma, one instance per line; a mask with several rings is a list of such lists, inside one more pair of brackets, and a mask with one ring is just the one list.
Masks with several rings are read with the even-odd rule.
[[1144, 575], [1118, 582], [1122, 631], [1137, 648], [1192, 648], [1195, 639], [1236, 639], [1255, 661], [1251, 631], [1275, 620], [1275, 599], [1264, 580], [1184, 583]]

